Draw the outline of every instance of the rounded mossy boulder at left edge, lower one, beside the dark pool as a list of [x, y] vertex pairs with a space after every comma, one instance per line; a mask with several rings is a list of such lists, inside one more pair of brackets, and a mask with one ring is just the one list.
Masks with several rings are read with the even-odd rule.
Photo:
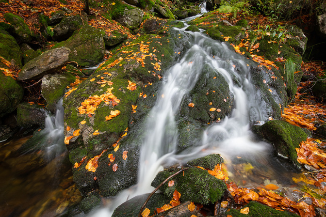
[[24, 89], [0, 70], [0, 117], [13, 112], [23, 98]]

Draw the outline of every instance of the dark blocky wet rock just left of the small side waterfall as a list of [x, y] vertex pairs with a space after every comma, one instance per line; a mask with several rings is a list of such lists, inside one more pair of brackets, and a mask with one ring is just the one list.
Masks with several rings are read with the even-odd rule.
[[35, 104], [21, 103], [17, 107], [17, 124], [21, 127], [44, 126], [44, 111]]

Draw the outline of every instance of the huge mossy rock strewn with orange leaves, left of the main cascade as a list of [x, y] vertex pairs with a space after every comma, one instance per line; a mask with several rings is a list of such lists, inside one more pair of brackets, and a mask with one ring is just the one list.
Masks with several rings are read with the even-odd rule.
[[[66, 145], [70, 162], [79, 163], [87, 156], [87, 160], [74, 169], [74, 181], [83, 194], [99, 189], [101, 195], [113, 196], [136, 184], [138, 169], [134, 165], [138, 165], [141, 143], [120, 140], [116, 152], [113, 151], [116, 146], [113, 144], [125, 133], [127, 127], [130, 135], [130, 128], [146, 116], [156, 100], [159, 76], [174, 62], [175, 50], [184, 49], [187, 45], [187, 37], [177, 42], [175, 36], [179, 32], [174, 32], [172, 28], [175, 25], [179, 23], [171, 24], [170, 37], [143, 35], [130, 45], [115, 49], [112, 58], [64, 99], [65, 137], [73, 136], [73, 132], [80, 129], [79, 135], [73, 136]], [[136, 89], [127, 88], [130, 82], [134, 83], [132, 85]], [[141, 97], [140, 93], [143, 94]], [[114, 95], [115, 100], [110, 100], [109, 95]], [[88, 100], [94, 98], [99, 100], [96, 110], [88, 112], [78, 109], [82, 106], [81, 103], [87, 105], [87, 102], [91, 102]], [[131, 106], [137, 106], [135, 113]], [[119, 110], [120, 114], [106, 121], [106, 116], [114, 110]], [[85, 124], [81, 124], [83, 120], [86, 121]], [[66, 131], [67, 126], [70, 127], [69, 131]], [[99, 134], [93, 134], [96, 130]], [[100, 155], [104, 149], [107, 151], [99, 157], [97, 170], [86, 170], [88, 159]], [[122, 155], [127, 150], [128, 158], [124, 160]], [[110, 162], [108, 154], [116, 156], [114, 162]], [[115, 163], [118, 169], [114, 172], [112, 167]]]

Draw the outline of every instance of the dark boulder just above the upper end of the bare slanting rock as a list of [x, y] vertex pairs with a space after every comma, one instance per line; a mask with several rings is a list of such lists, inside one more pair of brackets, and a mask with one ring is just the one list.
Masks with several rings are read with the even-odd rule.
[[64, 41], [68, 39], [76, 30], [79, 30], [84, 23], [87, 23], [87, 17], [74, 15], [66, 16], [61, 22], [53, 28], [53, 39]]

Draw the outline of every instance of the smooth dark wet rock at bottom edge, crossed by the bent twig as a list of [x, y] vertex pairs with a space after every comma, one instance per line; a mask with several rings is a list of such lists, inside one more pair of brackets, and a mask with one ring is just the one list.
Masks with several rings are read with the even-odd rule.
[[[143, 194], [131, 198], [127, 202], [122, 203], [118, 206], [112, 217], [131, 217], [131, 216], [138, 216], [140, 208], [145, 203], [149, 194]], [[153, 194], [149, 201], [146, 204], [146, 208], [150, 210], [149, 216], [154, 215], [155, 208], [162, 207], [164, 204], [168, 204], [171, 199], [165, 198], [162, 193]]]

